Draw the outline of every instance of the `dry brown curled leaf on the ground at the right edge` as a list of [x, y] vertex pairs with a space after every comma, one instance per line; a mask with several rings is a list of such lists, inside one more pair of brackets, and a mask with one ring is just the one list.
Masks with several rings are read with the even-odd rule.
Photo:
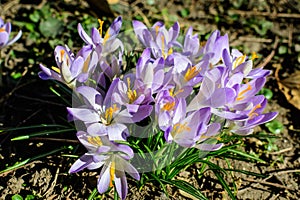
[[284, 94], [286, 100], [300, 110], [300, 71], [296, 71], [288, 78], [280, 80], [278, 71], [280, 66], [277, 66], [275, 78], [280, 91]]

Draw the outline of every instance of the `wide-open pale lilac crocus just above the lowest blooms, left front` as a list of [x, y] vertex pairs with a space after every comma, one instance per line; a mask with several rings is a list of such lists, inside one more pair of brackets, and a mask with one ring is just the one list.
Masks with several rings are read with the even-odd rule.
[[76, 89], [83, 96], [86, 106], [67, 109], [75, 119], [86, 124], [89, 134], [108, 135], [111, 141], [125, 140], [128, 136], [124, 123], [134, 123], [132, 115], [111, 99], [118, 81], [115, 79], [112, 82], [105, 97], [92, 87], [81, 86]]

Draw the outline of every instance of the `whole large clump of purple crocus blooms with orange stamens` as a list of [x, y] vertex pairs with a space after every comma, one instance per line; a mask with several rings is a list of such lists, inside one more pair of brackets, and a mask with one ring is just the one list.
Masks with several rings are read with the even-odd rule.
[[[263, 113], [267, 100], [257, 95], [270, 71], [254, 68], [256, 54], [231, 49], [228, 36], [220, 31], [201, 45], [192, 27], [179, 42], [178, 22], [166, 29], [162, 22], [148, 28], [133, 21], [144, 49], [135, 66], [126, 66], [124, 44], [118, 38], [122, 18], [117, 17], [105, 35], [99, 22], [100, 28], [92, 28], [90, 35], [79, 24], [85, 45], [76, 55], [67, 46], [57, 46], [57, 66], [41, 65], [39, 75], [65, 83], [80, 99], [79, 105], [67, 109], [80, 123], [77, 137], [87, 153], [70, 172], [102, 167], [100, 193], [115, 187], [125, 199], [125, 173], [140, 179], [131, 163], [135, 152], [126, 143], [129, 137], [163, 132], [166, 143], [209, 152], [222, 147], [218, 135], [223, 130], [248, 135], [276, 117], [276, 112]], [[132, 70], [124, 73], [125, 66]], [[132, 128], [149, 117], [152, 129]]]

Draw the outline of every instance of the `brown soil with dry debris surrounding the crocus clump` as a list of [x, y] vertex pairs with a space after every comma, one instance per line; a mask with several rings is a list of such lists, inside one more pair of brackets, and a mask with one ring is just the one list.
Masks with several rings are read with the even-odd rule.
[[[229, 34], [231, 46], [242, 49], [246, 54], [256, 51], [260, 56], [255, 63], [257, 66], [264, 66], [273, 72], [276, 67], [281, 66], [279, 77], [276, 78], [272, 73], [266, 84], [266, 88], [273, 91], [266, 112], [279, 112], [276, 120], [284, 125], [283, 130], [275, 135], [276, 138], [247, 137], [242, 140], [244, 145], [241, 149], [266, 162], [225, 160], [222, 157], [211, 161], [223, 168], [263, 175], [257, 177], [236, 171], [228, 173], [225, 178], [229, 183], [235, 183], [230, 186], [233, 190], [235, 188], [238, 199], [300, 199], [300, 108], [291, 104], [278, 87], [278, 78], [283, 80], [300, 70], [300, 3], [294, 0], [235, 0], [230, 3], [215, 0], [189, 0], [184, 3], [179, 0], [120, 0], [115, 1], [115, 4], [114, 1], [108, 1], [110, 10], [107, 10], [101, 5], [91, 5], [92, 2], [54, 1], [50, 6], [57, 12], [71, 13], [73, 18], [78, 17], [78, 13], [80, 16], [87, 14], [107, 19], [112, 19], [109, 15], [123, 15], [126, 20], [141, 19], [149, 26], [157, 20], [165, 21], [167, 26], [178, 20], [183, 30], [193, 26], [194, 32], [199, 33], [202, 40], [211, 31], [219, 29], [222, 33]], [[46, 1], [38, 0], [2, 0], [0, 14], [13, 24], [14, 19], [22, 20], [24, 13], [31, 13], [45, 3]], [[105, 12], [101, 12], [103, 9], [106, 9]], [[66, 22], [71, 23], [68, 20], [70, 19]], [[272, 26], [266, 28], [266, 21], [272, 23]], [[49, 91], [48, 82], [37, 78], [39, 62], [49, 65], [54, 63], [53, 49], [47, 47], [43, 56], [37, 58], [32, 55], [37, 41], [28, 41], [23, 34], [18, 43], [2, 51], [5, 67], [4, 87], [0, 87], [0, 129], [46, 123], [67, 125], [65, 119], [57, 116], [57, 113], [60, 116], [67, 115], [65, 103]], [[17, 55], [15, 59], [11, 49]], [[28, 58], [37, 60], [31, 63]], [[22, 73], [22, 78], [11, 78], [11, 74], [17, 72]], [[299, 80], [295, 80], [294, 84], [296, 88], [300, 88]], [[298, 100], [300, 101], [299, 98]], [[37, 128], [34, 131], [39, 130], [43, 129]], [[0, 132], [0, 170], [31, 158], [25, 165], [0, 174], [0, 199], [11, 199], [14, 194], [20, 194], [24, 198], [26, 195], [34, 195], [36, 199], [87, 199], [96, 187], [98, 172], [84, 170], [68, 174], [76, 158], [68, 156], [75, 150], [70, 150], [67, 146], [79, 144], [74, 133], [55, 135], [56, 140], [43, 137], [10, 140], [18, 134], [24, 135], [31, 131], [33, 130]], [[258, 127], [256, 133], [262, 131], [270, 133], [266, 126]], [[64, 149], [40, 159], [35, 158], [57, 148]], [[84, 148], [77, 145], [76, 152], [80, 155], [84, 153]], [[209, 199], [230, 199], [211, 171], [207, 170], [203, 176], [199, 176], [200, 167], [200, 164], [190, 166], [176, 179], [188, 181]], [[148, 183], [140, 189], [134, 180], [129, 178], [128, 181], [127, 199], [193, 199], [173, 186], [167, 186], [166, 195], [158, 185]], [[102, 197], [113, 199], [113, 191]]]

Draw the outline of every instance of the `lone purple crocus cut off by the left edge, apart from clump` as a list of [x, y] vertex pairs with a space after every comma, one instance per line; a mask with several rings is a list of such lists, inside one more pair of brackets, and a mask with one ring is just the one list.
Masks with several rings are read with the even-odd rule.
[[3, 19], [0, 17], [0, 49], [16, 42], [22, 36], [22, 31], [20, 30], [18, 34], [11, 39], [9, 39], [10, 34], [11, 23], [4, 23]]

